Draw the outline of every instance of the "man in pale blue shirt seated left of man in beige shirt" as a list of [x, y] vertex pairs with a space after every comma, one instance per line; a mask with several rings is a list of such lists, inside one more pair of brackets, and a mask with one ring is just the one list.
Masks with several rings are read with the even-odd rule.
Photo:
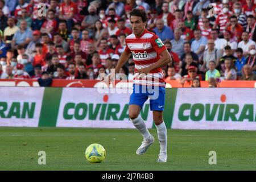
[[204, 54], [205, 46], [207, 45], [207, 38], [201, 35], [200, 30], [194, 31], [195, 40], [192, 41], [191, 50], [200, 58]]

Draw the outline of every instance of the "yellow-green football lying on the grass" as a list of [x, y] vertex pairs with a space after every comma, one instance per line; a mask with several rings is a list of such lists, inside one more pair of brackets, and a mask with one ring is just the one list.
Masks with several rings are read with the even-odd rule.
[[101, 144], [90, 144], [85, 150], [85, 158], [90, 163], [101, 163], [106, 157], [105, 148]]

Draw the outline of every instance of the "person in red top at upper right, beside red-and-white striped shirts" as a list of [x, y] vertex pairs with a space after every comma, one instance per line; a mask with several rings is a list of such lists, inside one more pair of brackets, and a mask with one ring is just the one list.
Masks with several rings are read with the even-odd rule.
[[229, 20], [230, 23], [227, 23], [227, 30], [234, 35], [234, 40], [240, 42], [242, 40], [241, 36], [243, 32], [243, 27], [237, 22], [236, 15], [230, 16]]

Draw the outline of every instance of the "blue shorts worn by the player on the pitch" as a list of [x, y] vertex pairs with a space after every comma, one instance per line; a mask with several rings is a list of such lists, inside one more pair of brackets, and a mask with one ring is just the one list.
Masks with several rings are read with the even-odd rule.
[[150, 110], [163, 111], [166, 89], [163, 86], [143, 86], [133, 84], [133, 93], [130, 95], [129, 105], [143, 107], [150, 98]]

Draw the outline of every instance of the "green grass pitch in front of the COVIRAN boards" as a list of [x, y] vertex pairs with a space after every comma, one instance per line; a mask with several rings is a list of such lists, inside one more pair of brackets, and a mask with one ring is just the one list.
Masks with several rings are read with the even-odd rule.
[[[156, 163], [155, 143], [144, 155], [135, 151], [142, 142], [136, 129], [0, 128], [0, 170], [255, 170], [255, 131], [168, 130], [167, 163]], [[86, 161], [91, 143], [105, 147], [106, 159]], [[46, 152], [46, 165], [38, 164], [38, 152]], [[209, 151], [217, 164], [210, 165]]]

